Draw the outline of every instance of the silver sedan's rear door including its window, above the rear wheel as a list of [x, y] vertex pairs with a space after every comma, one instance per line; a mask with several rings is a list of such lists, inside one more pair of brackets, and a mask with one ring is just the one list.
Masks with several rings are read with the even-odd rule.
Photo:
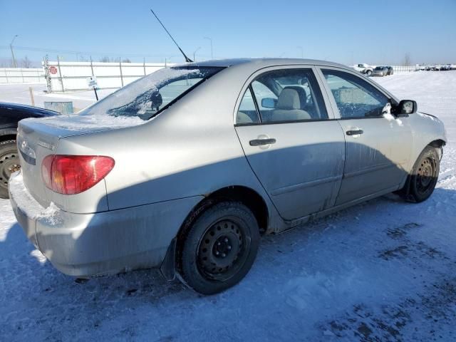
[[236, 131], [252, 170], [284, 219], [333, 206], [343, 174], [343, 132], [314, 68], [255, 73], [242, 90]]

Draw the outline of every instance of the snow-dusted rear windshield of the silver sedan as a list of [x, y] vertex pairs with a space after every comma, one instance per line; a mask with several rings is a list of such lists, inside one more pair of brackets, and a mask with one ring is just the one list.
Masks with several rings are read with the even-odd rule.
[[120, 88], [80, 115], [111, 115], [149, 120], [222, 68], [163, 68]]

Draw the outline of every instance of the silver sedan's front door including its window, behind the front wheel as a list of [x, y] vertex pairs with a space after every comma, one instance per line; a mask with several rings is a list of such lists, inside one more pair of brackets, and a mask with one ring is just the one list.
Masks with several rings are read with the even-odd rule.
[[391, 115], [392, 99], [356, 73], [322, 67], [321, 77], [346, 140], [336, 205], [397, 190], [410, 160], [413, 138], [408, 118]]

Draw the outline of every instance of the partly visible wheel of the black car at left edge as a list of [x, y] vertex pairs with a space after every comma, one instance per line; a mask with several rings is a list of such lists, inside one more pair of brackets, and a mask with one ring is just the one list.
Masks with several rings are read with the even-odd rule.
[[11, 173], [20, 170], [16, 140], [0, 142], [0, 198], [8, 198], [8, 182]]

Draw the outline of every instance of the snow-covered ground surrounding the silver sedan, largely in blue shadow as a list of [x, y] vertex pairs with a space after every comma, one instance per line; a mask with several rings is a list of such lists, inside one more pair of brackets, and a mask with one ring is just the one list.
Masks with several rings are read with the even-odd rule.
[[388, 195], [264, 237], [239, 285], [199, 296], [157, 271], [78, 284], [0, 200], [0, 341], [455, 341], [456, 71], [375, 81], [445, 122], [426, 202]]

